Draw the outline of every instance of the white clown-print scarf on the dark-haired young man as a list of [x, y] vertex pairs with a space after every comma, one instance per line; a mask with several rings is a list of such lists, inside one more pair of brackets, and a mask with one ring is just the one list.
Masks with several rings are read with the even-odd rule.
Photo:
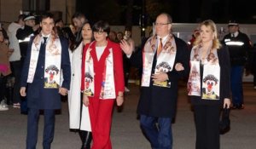
[[[29, 64], [27, 83], [32, 83], [38, 64], [38, 55], [44, 38], [41, 34], [34, 38]], [[59, 88], [61, 82], [61, 41], [51, 34], [45, 45], [44, 88]]]

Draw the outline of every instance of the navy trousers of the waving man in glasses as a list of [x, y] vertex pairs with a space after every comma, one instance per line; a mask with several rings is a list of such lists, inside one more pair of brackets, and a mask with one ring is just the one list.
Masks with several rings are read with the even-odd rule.
[[141, 128], [153, 149], [172, 149], [172, 118], [140, 116]]

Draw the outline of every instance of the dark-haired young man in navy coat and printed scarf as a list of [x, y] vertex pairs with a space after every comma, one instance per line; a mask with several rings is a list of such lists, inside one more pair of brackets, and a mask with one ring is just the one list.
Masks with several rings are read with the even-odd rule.
[[[40, 110], [44, 111], [43, 146], [50, 148], [55, 132], [55, 110], [61, 109], [61, 95], [67, 95], [71, 76], [67, 39], [53, 33], [53, 14], [43, 14], [40, 26], [42, 31], [32, 37], [28, 45], [21, 73], [20, 95], [26, 96], [28, 106], [26, 149], [37, 146]], [[62, 70], [63, 81], [61, 73], [49, 76], [49, 66]], [[45, 85], [45, 80], [49, 79], [57, 85]]]

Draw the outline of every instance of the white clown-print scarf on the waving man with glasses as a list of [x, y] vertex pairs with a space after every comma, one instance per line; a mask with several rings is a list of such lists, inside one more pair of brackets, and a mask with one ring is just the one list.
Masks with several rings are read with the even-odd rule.
[[[175, 43], [175, 39], [170, 34], [166, 39], [166, 44], [163, 46], [160, 54], [157, 57], [157, 62], [154, 70], [154, 74], [159, 72], [171, 72], [176, 53], [177, 53], [177, 47]], [[145, 43], [144, 49], [143, 49], [143, 77], [142, 77], [142, 86], [148, 87], [150, 84], [150, 77], [151, 77], [151, 70], [154, 60], [154, 54], [156, 54], [156, 42], [157, 37], [150, 37]], [[168, 81], [164, 82], [154, 82], [155, 86], [160, 87], [166, 87], [170, 88], [171, 83]]]

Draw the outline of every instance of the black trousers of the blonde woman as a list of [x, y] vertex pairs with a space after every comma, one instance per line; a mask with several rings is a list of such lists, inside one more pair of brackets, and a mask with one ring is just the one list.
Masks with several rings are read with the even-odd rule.
[[219, 105], [196, 105], [196, 149], [219, 149]]

